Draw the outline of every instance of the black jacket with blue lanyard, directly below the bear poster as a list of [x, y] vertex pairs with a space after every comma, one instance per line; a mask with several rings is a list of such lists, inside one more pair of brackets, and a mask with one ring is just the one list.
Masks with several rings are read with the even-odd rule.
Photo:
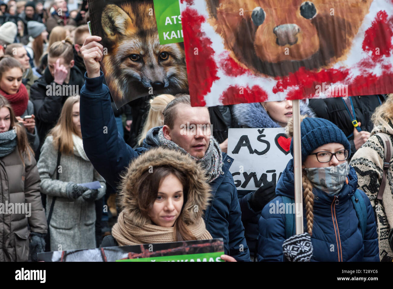
[[[385, 100], [385, 96], [383, 94], [375, 94], [369, 96], [352, 96], [351, 98], [356, 120], [362, 123], [362, 131], [371, 132], [374, 127], [371, 116], [376, 107]], [[349, 112], [342, 98], [310, 99], [309, 106], [314, 110], [318, 118], [330, 120], [337, 125], [347, 137], [353, 133], [354, 127], [352, 125], [352, 119], [349, 116]], [[350, 158], [352, 158], [353, 154], [356, 152], [353, 135], [349, 137], [348, 140], [351, 144]]]

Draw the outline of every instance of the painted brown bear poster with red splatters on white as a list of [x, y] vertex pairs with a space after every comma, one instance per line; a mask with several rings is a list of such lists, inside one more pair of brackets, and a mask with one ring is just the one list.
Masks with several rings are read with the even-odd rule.
[[386, 0], [180, 0], [192, 105], [393, 91]]

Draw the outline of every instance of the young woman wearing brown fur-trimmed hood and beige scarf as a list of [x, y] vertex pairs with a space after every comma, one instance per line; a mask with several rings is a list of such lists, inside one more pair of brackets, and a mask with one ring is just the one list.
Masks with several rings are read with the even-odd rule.
[[151, 149], [130, 164], [119, 189], [122, 211], [101, 247], [212, 239], [202, 219], [210, 186], [188, 155]]

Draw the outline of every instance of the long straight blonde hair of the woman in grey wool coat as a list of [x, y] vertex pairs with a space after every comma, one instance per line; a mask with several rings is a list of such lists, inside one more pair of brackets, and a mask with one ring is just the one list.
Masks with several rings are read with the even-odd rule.
[[72, 107], [77, 102], [79, 102], [79, 95], [70, 96], [66, 99], [57, 124], [48, 133], [48, 136], [53, 137], [53, 146], [56, 149], [59, 147], [61, 153], [68, 155], [73, 154], [74, 143], [72, 140], [72, 135], [78, 135], [78, 132], [75, 130], [75, 126], [72, 121]]

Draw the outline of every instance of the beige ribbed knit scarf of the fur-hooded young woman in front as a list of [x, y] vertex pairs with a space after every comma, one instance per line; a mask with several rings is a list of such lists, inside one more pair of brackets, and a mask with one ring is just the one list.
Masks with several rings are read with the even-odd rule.
[[[195, 225], [189, 225], [188, 230], [197, 240], [213, 239], [206, 230], [202, 218]], [[112, 236], [119, 243], [119, 246], [140, 245], [151, 243], [175, 242], [174, 227], [162, 227], [146, 224], [142, 227], [135, 226], [124, 217], [123, 212], [119, 214], [118, 222], [112, 227]]]

